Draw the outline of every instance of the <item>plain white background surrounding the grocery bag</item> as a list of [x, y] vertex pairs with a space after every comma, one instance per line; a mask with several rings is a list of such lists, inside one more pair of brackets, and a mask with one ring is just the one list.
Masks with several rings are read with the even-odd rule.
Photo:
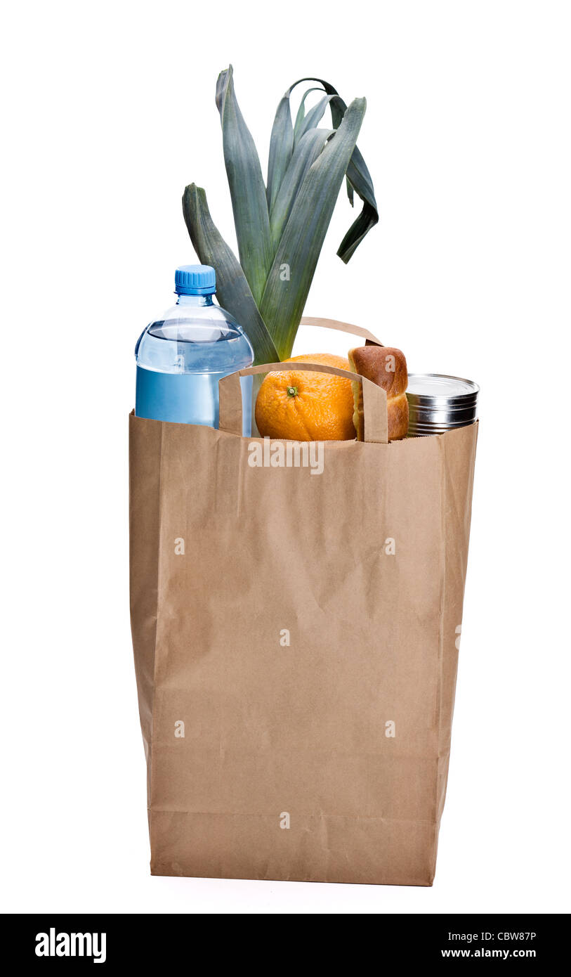
[[[2, 28], [0, 774], [8, 912], [563, 912], [569, 879], [571, 9], [552, 0], [11, 4]], [[128, 616], [135, 341], [233, 243], [218, 72], [266, 166], [278, 99], [366, 95], [381, 223], [345, 191], [306, 313], [481, 385], [448, 796], [431, 889], [151, 878]], [[301, 330], [296, 352], [345, 353]], [[228, 581], [226, 581], [228, 582]], [[231, 582], [231, 581], [229, 581]], [[222, 583], [222, 581], [221, 581]]]

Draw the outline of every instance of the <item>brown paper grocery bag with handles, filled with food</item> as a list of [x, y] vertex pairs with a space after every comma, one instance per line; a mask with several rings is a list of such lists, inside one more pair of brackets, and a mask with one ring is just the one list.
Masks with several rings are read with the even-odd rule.
[[130, 418], [151, 872], [430, 885], [477, 424], [387, 444], [364, 381], [366, 442], [270, 443], [220, 391]]

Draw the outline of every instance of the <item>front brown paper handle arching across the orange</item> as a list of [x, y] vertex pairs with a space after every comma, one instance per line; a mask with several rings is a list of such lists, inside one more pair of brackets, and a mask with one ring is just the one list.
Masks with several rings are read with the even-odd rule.
[[[326, 319], [326, 321], [329, 320]], [[365, 416], [364, 440], [377, 445], [387, 445], [387, 391], [359, 373], [339, 369], [337, 366], [327, 366], [325, 363], [291, 362], [288, 360], [279, 363], [261, 363], [259, 366], [248, 366], [224, 376], [218, 382], [220, 395], [219, 427], [221, 431], [227, 431], [228, 434], [242, 434], [240, 377], [250, 376], [254, 373], [269, 373], [273, 370], [307, 370], [311, 373], [332, 373], [333, 376], [341, 376], [346, 380], [361, 383], [363, 385], [363, 413]]]

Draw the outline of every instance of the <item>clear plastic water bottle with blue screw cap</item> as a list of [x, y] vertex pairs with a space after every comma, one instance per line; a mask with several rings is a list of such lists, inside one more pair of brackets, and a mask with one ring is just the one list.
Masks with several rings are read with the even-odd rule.
[[[159, 421], [218, 427], [218, 381], [251, 366], [244, 330], [215, 305], [216, 273], [209, 265], [175, 272], [177, 304], [147, 325], [135, 347], [135, 413]], [[252, 429], [252, 377], [242, 377], [243, 434]]]

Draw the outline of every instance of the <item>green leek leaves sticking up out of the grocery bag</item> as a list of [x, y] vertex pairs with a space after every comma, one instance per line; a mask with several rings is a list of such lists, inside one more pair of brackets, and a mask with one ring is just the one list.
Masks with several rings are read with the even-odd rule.
[[[301, 81], [317, 87], [306, 91], [294, 125], [290, 97]], [[313, 91], [323, 95], [306, 111]], [[219, 76], [216, 104], [239, 261], [214, 224], [206, 192], [195, 184], [184, 190], [184, 221], [200, 261], [216, 269], [221, 305], [243, 326], [255, 362], [287, 360], [344, 179], [351, 205], [356, 193], [363, 207], [337, 252], [342, 261], [349, 261], [379, 220], [373, 183], [356, 147], [366, 102], [355, 99], [347, 106], [321, 79], [295, 82], [275, 113], [266, 183], [236, 100], [231, 65]], [[319, 128], [328, 107], [332, 126]]]

